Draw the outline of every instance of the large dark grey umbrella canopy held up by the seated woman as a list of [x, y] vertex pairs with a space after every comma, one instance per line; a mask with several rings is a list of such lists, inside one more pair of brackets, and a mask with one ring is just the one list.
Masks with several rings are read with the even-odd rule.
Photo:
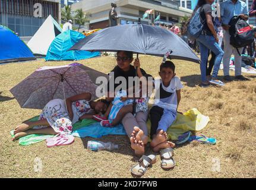
[[164, 56], [172, 50], [170, 59], [200, 62], [198, 56], [179, 36], [161, 27], [145, 24], [123, 24], [96, 31], [69, 50], [127, 50], [154, 56]]

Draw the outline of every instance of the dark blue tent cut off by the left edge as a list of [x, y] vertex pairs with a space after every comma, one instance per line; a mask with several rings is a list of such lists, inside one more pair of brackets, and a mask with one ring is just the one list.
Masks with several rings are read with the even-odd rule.
[[0, 64], [36, 59], [27, 45], [7, 27], [0, 25]]

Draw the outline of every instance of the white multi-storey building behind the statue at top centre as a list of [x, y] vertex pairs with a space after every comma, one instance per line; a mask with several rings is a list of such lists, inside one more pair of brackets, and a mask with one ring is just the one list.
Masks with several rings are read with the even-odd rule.
[[160, 20], [157, 22], [170, 24], [178, 23], [181, 17], [190, 16], [191, 9], [179, 7], [176, 1], [172, 0], [83, 0], [72, 4], [72, 10], [82, 8], [84, 12], [89, 12], [90, 29], [103, 29], [109, 25], [109, 11], [112, 8], [111, 3], [117, 5], [118, 23], [136, 23], [138, 18], [142, 18], [147, 9], [154, 9], [154, 14], [149, 18], [141, 19], [141, 23], [150, 24], [154, 18], [160, 14]]

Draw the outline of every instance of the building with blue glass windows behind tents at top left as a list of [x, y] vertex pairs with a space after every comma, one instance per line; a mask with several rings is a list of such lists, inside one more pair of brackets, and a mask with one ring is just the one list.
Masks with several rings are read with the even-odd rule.
[[[49, 15], [60, 23], [59, 2], [60, 0], [0, 0], [0, 24], [18, 33], [20, 37], [33, 36]], [[35, 6], [36, 4], [40, 6]], [[37, 9], [40, 11], [37, 12]]]

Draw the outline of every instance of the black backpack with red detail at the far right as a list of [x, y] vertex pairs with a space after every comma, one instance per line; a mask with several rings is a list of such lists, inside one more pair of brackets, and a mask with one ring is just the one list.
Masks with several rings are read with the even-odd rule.
[[[236, 50], [238, 50], [238, 47], [244, 47], [254, 42], [254, 31], [249, 24], [238, 15], [231, 18], [229, 26], [230, 45], [236, 47]], [[241, 53], [239, 53], [239, 55], [241, 55]]]

